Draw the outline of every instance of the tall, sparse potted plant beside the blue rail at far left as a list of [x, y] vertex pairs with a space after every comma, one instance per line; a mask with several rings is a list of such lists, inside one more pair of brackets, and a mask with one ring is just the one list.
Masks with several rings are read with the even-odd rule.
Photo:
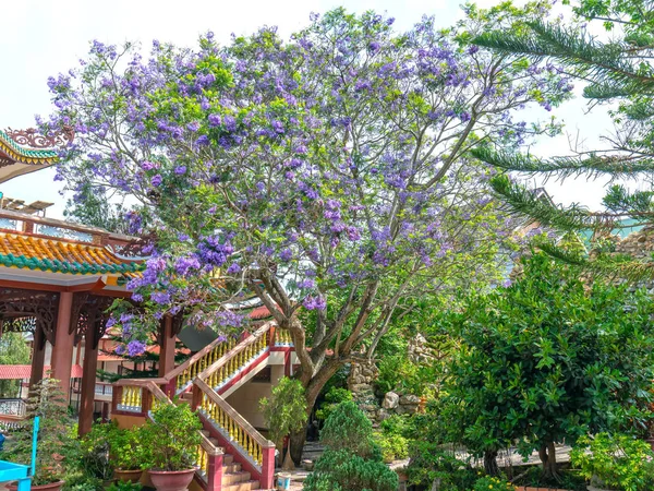
[[[75, 444], [71, 432], [75, 424], [68, 414], [65, 396], [58, 380], [44, 379], [33, 387], [26, 416], [25, 424], [8, 441], [7, 458], [17, 464], [31, 464], [34, 418], [38, 416], [40, 422], [32, 489], [59, 491], [64, 484], [66, 450]], [[17, 486], [10, 484], [8, 489], [16, 490]]]

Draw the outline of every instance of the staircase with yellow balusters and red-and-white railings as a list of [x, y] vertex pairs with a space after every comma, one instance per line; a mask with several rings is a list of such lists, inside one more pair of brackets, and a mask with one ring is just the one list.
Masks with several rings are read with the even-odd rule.
[[[122, 379], [112, 392], [112, 417], [143, 421], [159, 404], [191, 404], [203, 423], [194, 483], [205, 491], [274, 488], [275, 444], [226, 402], [252, 376], [280, 359], [292, 369], [288, 332], [272, 322], [241, 339], [216, 339], [162, 378]], [[191, 488], [193, 489], [193, 488]]]

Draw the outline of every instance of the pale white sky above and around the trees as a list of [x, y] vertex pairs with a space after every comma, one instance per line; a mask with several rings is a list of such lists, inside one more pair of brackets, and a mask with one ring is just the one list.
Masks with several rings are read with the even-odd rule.
[[[488, 7], [498, 0], [481, 0]], [[276, 25], [282, 36], [308, 23], [311, 12], [325, 12], [343, 5], [350, 11], [370, 9], [386, 12], [396, 19], [398, 31], [410, 28], [422, 15], [434, 15], [446, 27], [462, 16], [459, 0], [21, 0], [2, 5], [0, 56], [3, 76], [0, 79], [0, 128], [34, 127], [35, 115], [46, 116], [51, 104], [46, 85], [48, 76], [78, 64], [85, 58], [89, 41], [121, 44], [141, 41], [149, 48], [153, 39], [179, 46], [193, 46], [201, 33], [213, 31], [217, 40], [228, 43], [231, 33], [249, 34], [263, 25]], [[553, 113], [566, 123], [566, 132], [555, 139], [538, 142], [530, 152], [534, 155], [570, 153], [569, 137], [584, 142], [588, 148], [610, 131], [606, 110], [585, 113], [585, 101], [574, 100]], [[544, 110], [535, 118], [548, 118]], [[16, 178], [0, 185], [5, 196], [56, 203], [48, 215], [61, 217], [65, 196], [61, 182], [55, 182], [53, 170], [46, 169]], [[536, 182], [541, 184], [541, 182]], [[585, 180], [545, 184], [555, 202], [581, 203], [597, 208], [603, 182]]]

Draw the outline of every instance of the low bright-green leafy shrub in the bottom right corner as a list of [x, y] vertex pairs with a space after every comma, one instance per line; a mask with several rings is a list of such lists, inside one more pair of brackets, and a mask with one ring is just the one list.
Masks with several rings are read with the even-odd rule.
[[583, 436], [570, 453], [590, 491], [654, 489], [653, 458], [649, 443], [627, 434]]

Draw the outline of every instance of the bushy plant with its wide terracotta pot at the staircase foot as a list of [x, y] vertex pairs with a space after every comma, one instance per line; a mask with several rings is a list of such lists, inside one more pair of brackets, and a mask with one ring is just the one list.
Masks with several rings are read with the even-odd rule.
[[141, 429], [144, 469], [158, 491], [185, 491], [195, 472], [202, 422], [185, 404], [162, 404]]

